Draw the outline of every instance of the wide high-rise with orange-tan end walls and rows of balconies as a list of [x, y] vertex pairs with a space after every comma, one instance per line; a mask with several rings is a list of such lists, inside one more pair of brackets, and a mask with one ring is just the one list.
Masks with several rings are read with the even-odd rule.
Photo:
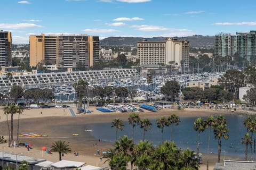
[[58, 69], [90, 67], [99, 61], [99, 37], [87, 35], [30, 36], [30, 66], [56, 64]]

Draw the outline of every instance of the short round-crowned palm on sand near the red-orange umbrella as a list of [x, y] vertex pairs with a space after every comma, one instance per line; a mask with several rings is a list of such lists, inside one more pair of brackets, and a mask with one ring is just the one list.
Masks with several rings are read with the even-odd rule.
[[52, 143], [51, 150], [53, 152], [59, 152], [60, 160], [62, 154], [68, 154], [71, 152], [69, 145], [66, 143], [66, 141], [62, 140], [54, 141], [54, 143]]

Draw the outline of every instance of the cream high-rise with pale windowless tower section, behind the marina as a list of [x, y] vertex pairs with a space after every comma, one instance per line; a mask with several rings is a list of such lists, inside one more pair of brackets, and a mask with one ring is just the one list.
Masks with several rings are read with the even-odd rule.
[[189, 41], [168, 38], [162, 41], [137, 42], [138, 58], [140, 65], [157, 65], [163, 63], [175, 67], [188, 68], [189, 66]]

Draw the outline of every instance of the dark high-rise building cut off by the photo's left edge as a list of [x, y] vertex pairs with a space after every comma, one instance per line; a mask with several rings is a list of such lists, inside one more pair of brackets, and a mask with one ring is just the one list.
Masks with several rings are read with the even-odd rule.
[[0, 30], [0, 66], [9, 67], [12, 64], [12, 34]]

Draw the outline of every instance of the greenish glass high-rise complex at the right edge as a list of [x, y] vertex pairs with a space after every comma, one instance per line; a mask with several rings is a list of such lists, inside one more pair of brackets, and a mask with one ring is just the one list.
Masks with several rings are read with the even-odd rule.
[[256, 31], [237, 32], [236, 35], [220, 33], [215, 35], [215, 56], [232, 56], [237, 53], [239, 56], [251, 60], [256, 56]]

